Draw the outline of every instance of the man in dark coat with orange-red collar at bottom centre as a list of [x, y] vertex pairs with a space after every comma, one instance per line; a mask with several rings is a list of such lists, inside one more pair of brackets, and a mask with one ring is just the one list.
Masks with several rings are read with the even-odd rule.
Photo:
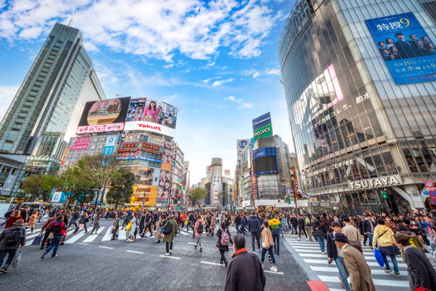
[[259, 257], [245, 248], [244, 235], [234, 235], [234, 254], [229, 264], [224, 291], [262, 291], [266, 277]]

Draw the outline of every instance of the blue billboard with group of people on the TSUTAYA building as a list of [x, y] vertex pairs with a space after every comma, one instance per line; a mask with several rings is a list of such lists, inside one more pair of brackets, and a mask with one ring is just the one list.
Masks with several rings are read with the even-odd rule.
[[411, 12], [377, 19], [365, 24], [396, 84], [436, 80], [436, 48]]

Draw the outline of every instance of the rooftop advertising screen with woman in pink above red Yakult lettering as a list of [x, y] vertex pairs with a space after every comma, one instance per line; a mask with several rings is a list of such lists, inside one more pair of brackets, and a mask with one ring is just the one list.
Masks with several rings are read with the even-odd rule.
[[125, 131], [152, 131], [174, 137], [177, 107], [147, 98], [131, 99], [125, 122]]

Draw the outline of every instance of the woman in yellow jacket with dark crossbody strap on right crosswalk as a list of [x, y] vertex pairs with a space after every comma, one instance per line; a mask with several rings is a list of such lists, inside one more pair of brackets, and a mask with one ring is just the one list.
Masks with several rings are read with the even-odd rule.
[[385, 272], [391, 272], [388, 262], [388, 256], [392, 260], [394, 267], [394, 274], [397, 277], [401, 277], [398, 271], [398, 264], [395, 255], [400, 255], [400, 250], [394, 244], [393, 231], [385, 225], [383, 218], [377, 218], [377, 226], [374, 229], [373, 247], [378, 245], [378, 249], [383, 255], [383, 261], [385, 261]]

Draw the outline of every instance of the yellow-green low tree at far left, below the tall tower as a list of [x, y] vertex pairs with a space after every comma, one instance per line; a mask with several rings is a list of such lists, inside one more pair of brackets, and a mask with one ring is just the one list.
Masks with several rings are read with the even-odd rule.
[[30, 195], [32, 201], [39, 199], [46, 202], [53, 191], [61, 185], [61, 178], [58, 175], [29, 175], [23, 181], [24, 194]]

